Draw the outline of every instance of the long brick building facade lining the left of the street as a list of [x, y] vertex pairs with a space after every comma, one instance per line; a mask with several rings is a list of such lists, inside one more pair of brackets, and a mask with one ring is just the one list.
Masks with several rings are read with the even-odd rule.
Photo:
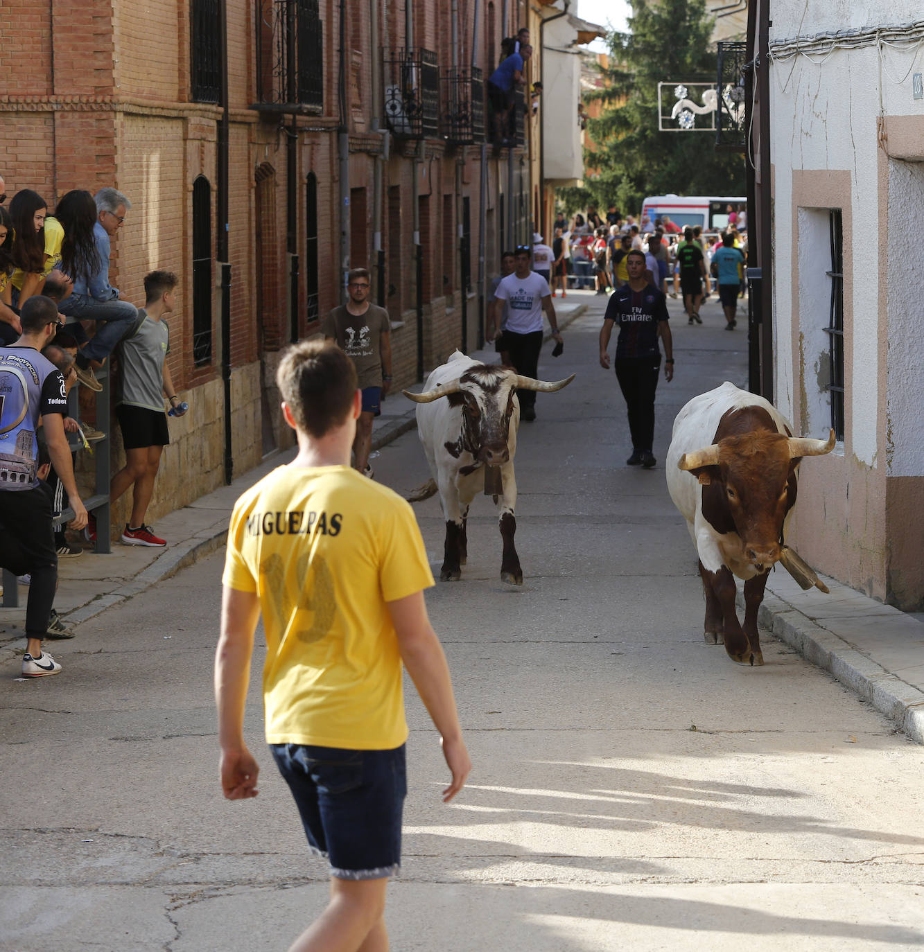
[[[70, 188], [119, 188], [132, 207], [113, 243], [113, 286], [141, 303], [151, 269], [181, 278], [169, 361], [191, 413], [171, 423], [152, 518], [288, 441], [277, 354], [317, 332], [348, 268], [372, 269], [373, 300], [392, 317], [397, 387], [480, 342], [501, 247], [533, 228], [530, 133], [495, 148], [476, 115], [466, 125], [466, 107], [481, 95], [472, 68], [486, 79], [528, 13], [525, 0], [458, 0], [453, 24], [452, 6], [6, 5], [7, 191], [33, 188], [51, 210]], [[432, 124], [416, 123], [421, 100]]]

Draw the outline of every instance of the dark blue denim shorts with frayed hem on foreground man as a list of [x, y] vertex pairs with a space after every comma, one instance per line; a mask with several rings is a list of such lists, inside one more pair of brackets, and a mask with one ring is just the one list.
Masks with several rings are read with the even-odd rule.
[[401, 814], [408, 793], [405, 745], [347, 750], [270, 744], [289, 784], [311, 852], [340, 880], [380, 880], [401, 867]]

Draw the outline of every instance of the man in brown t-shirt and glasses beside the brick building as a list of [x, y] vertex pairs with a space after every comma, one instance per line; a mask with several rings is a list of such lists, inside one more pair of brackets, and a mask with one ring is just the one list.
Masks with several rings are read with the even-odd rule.
[[362, 412], [353, 439], [353, 466], [372, 479], [369, 465], [372, 448], [372, 418], [381, 414], [381, 399], [392, 386], [392, 322], [384, 307], [370, 304], [372, 277], [366, 268], [353, 268], [347, 275], [348, 298], [324, 319], [322, 330], [352, 358], [363, 391]]

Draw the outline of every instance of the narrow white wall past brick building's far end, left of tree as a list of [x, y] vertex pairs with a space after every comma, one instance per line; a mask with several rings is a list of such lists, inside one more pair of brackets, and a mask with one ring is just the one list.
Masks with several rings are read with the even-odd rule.
[[563, 16], [544, 31], [542, 50], [542, 123], [545, 177], [576, 180], [584, 177], [577, 103], [581, 98], [581, 60], [577, 30]]

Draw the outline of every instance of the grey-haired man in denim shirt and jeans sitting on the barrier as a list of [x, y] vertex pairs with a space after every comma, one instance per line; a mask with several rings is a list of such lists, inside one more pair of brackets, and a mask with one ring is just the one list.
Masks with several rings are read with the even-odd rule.
[[115, 188], [100, 188], [93, 196], [96, 224], [93, 241], [99, 253], [99, 269], [89, 279], [76, 276], [73, 293], [61, 302], [61, 313], [78, 321], [96, 321], [96, 333], [77, 354], [77, 376], [90, 389], [102, 386], [93, 376], [90, 361], [105, 360], [138, 320], [138, 308], [119, 300], [118, 288], [110, 285], [110, 240], [122, 228], [131, 202]]

